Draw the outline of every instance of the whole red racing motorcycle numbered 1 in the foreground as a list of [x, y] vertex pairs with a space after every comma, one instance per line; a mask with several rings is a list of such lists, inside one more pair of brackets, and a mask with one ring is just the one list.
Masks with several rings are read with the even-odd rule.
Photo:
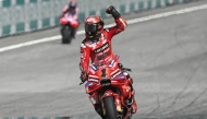
[[113, 56], [110, 61], [95, 60], [89, 66], [85, 91], [102, 119], [131, 119], [132, 117], [133, 100], [131, 86], [129, 86], [132, 79], [126, 72], [131, 69], [123, 68], [118, 59], [118, 56]]

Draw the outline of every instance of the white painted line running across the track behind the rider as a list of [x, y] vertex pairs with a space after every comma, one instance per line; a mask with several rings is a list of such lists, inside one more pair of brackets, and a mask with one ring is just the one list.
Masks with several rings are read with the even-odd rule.
[[[171, 16], [171, 15], [179, 15], [179, 14], [183, 14], [183, 13], [190, 13], [190, 12], [194, 12], [194, 11], [198, 11], [198, 10], [204, 10], [204, 9], [207, 9], [207, 4], [192, 7], [192, 8], [185, 8], [185, 9], [182, 9], [182, 10], [176, 10], [176, 11], [171, 11], [171, 12], [165, 12], [165, 13], [159, 13], [159, 14], [155, 14], [155, 15], [148, 15], [148, 16], [144, 16], [144, 17], [139, 17], [139, 19], [134, 19], [134, 20], [129, 20], [127, 24], [134, 24], [134, 23], [145, 22], [145, 21], [149, 21], [149, 20], [167, 17], [167, 16]], [[106, 25], [106, 27], [110, 27], [110, 26], [113, 26], [113, 25], [114, 25], [114, 23]], [[77, 35], [82, 35], [85, 32], [82, 29], [82, 31], [77, 32]], [[7, 50], [16, 49], [16, 48], [21, 48], [21, 47], [24, 47], [24, 46], [32, 46], [32, 45], [35, 45], [35, 44], [57, 40], [57, 39], [60, 39], [60, 38], [61, 38], [61, 36], [58, 35], [58, 36], [46, 37], [46, 38], [42, 38], [42, 39], [36, 39], [36, 40], [27, 41], [27, 43], [22, 43], [22, 44], [17, 44], [17, 45], [12, 45], [12, 46], [0, 48], [0, 52], [7, 51]]]

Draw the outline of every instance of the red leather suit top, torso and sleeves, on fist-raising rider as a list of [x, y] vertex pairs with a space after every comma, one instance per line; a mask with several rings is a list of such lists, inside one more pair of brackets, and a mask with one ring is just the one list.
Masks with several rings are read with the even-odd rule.
[[113, 56], [111, 39], [114, 35], [124, 31], [127, 26], [126, 21], [123, 17], [114, 20], [117, 25], [109, 28], [104, 28], [101, 36], [98, 40], [89, 40], [87, 37], [81, 44], [81, 70], [83, 72], [88, 71], [89, 59], [92, 62], [95, 58], [105, 58], [110, 60]]

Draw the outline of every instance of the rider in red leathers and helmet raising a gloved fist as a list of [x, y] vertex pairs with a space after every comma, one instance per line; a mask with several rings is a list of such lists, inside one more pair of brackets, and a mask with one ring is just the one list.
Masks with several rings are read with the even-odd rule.
[[[85, 39], [81, 44], [81, 81], [85, 82], [88, 78], [89, 59], [93, 62], [95, 58], [110, 60], [113, 56], [111, 39], [114, 35], [121, 33], [127, 26], [126, 21], [115, 10], [113, 5], [109, 7], [106, 12], [111, 14], [114, 19], [115, 26], [104, 28], [104, 21], [99, 15], [89, 15], [85, 20]], [[133, 83], [133, 82], [132, 82]], [[134, 99], [135, 91], [132, 83], [132, 114], [137, 110], [136, 102]]]

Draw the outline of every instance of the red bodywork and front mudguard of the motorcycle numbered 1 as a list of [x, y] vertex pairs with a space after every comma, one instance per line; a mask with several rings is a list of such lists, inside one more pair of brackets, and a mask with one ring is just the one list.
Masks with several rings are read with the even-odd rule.
[[[108, 96], [114, 97], [118, 112], [122, 112], [122, 107], [127, 108], [127, 114], [130, 110], [125, 105], [125, 100], [131, 97], [127, 73], [123, 72], [118, 63], [118, 57], [112, 57], [110, 60], [95, 60], [89, 66], [89, 78], [85, 84], [86, 93], [89, 94], [94, 106], [101, 104], [104, 115], [106, 114], [104, 98]], [[104, 81], [110, 81], [110, 84], [104, 85]]]

